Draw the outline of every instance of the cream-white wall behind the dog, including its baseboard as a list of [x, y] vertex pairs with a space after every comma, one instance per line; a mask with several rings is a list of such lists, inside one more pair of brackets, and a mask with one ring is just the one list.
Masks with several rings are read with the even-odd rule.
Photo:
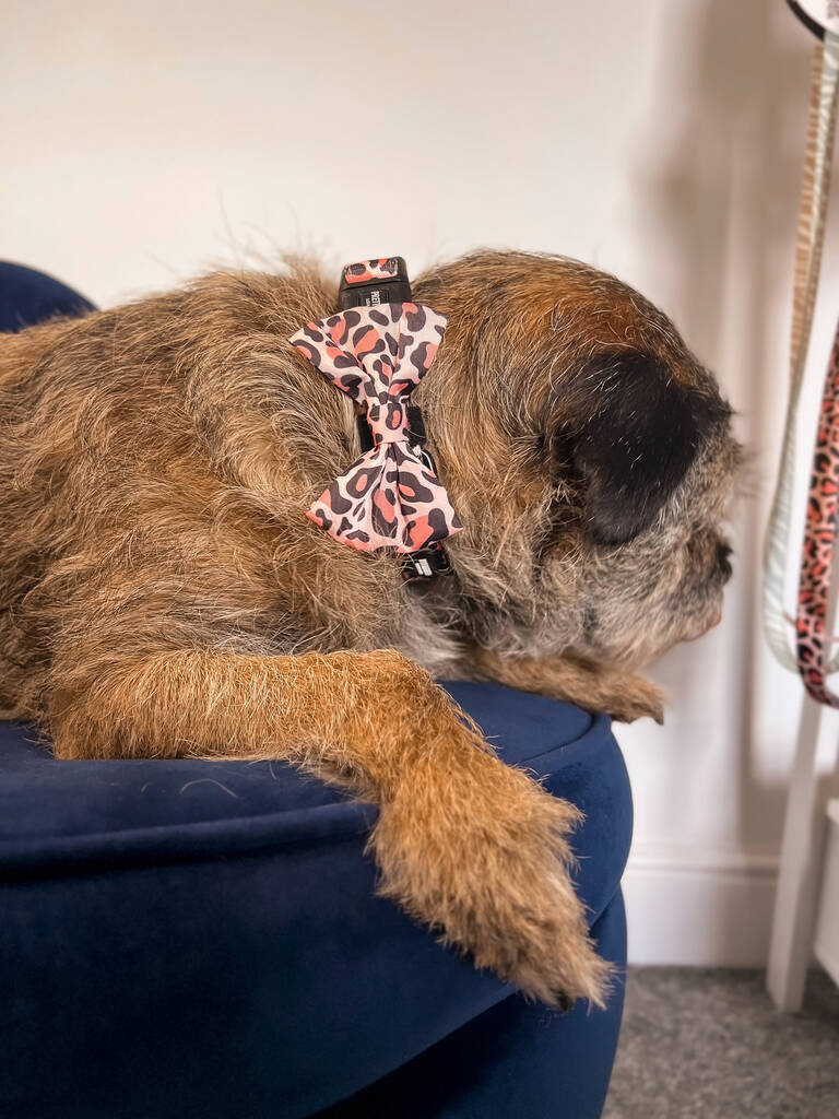
[[[755, 613], [812, 46], [782, 0], [4, 0], [0, 31], [0, 254], [100, 303], [279, 250], [496, 245], [673, 316], [754, 462], [725, 622], [657, 669], [667, 726], [620, 735], [632, 950], [758, 962], [800, 699]], [[833, 213], [816, 378], [838, 248]]]

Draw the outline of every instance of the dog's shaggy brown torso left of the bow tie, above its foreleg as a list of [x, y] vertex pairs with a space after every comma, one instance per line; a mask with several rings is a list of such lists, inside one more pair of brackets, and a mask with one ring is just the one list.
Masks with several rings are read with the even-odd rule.
[[329, 542], [302, 514], [355, 453], [352, 412], [287, 344], [327, 299], [301, 276], [220, 273], [0, 335], [2, 711], [37, 716], [79, 627], [106, 656], [152, 604], [175, 646], [341, 643], [359, 557], [339, 552], [329, 593]]

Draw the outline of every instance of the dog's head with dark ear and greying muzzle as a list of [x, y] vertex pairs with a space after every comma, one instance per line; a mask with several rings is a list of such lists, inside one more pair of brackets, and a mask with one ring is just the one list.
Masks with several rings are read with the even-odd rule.
[[631, 288], [555, 256], [421, 276], [449, 316], [417, 398], [464, 524], [474, 636], [638, 666], [719, 618], [739, 448], [713, 376]]

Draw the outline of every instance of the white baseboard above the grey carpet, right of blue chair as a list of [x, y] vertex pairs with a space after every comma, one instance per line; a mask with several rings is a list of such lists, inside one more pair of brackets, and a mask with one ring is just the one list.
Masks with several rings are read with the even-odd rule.
[[637, 844], [623, 877], [630, 963], [765, 967], [777, 862]]

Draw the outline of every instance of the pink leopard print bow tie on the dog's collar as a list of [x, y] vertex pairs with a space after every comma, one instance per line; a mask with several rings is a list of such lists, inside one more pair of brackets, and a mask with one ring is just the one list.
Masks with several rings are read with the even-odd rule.
[[411, 393], [428, 372], [445, 316], [416, 303], [356, 307], [310, 322], [292, 346], [365, 410], [374, 446], [337, 478], [307, 516], [361, 552], [418, 552], [462, 526], [408, 429]]

